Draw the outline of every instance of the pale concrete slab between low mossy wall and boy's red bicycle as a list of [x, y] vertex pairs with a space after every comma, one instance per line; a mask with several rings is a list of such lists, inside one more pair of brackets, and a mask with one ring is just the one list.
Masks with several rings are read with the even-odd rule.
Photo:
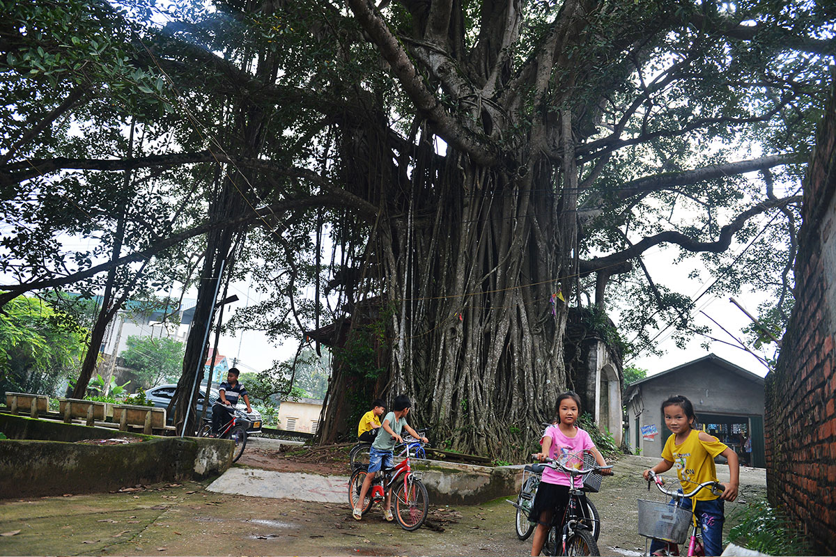
[[348, 476], [273, 472], [258, 468], [229, 468], [207, 491], [315, 503], [347, 503]]

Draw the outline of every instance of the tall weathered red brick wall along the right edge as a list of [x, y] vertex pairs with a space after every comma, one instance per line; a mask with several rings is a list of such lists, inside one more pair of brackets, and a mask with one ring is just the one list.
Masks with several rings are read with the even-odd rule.
[[836, 554], [836, 95], [804, 184], [796, 304], [766, 383], [767, 494], [820, 554]]

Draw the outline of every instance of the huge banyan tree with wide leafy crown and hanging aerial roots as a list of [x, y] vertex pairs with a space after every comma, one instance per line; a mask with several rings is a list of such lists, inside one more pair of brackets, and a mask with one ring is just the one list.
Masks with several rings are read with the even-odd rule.
[[[375, 384], [409, 393], [416, 418], [456, 448], [507, 455], [535, 434], [568, 384], [568, 307], [603, 308], [608, 284], [630, 296], [623, 323], [640, 338], [660, 316], [687, 327], [682, 296], [642, 264], [655, 246], [701, 254], [728, 289], [774, 290], [770, 315], [792, 299], [798, 179], [836, 52], [824, 3], [95, 5], [106, 14], [95, 17], [130, 28], [119, 65], [137, 73], [119, 90], [145, 93], [161, 115], [136, 115], [137, 99], [111, 90], [62, 92], [90, 72], [71, 66], [53, 75], [59, 87], [43, 102], [54, 110], [40, 116], [52, 120], [39, 129], [110, 95], [151, 137], [173, 129], [173, 141], [146, 139], [144, 157], [79, 154], [78, 142], [27, 150], [38, 130], [23, 127], [4, 138], [3, 191], [59, 171], [186, 169], [167, 180], [203, 184], [206, 209], [113, 265], [208, 232], [197, 321], [211, 318], [233, 263], [276, 288], [265, 316], [250, 316], [273, 332], [319, 326], [338, 293], [336, 313], [365, 300], [389, 355]], [[47, 36], [31, 23], [43, 14], [17, 10], [0, 47], [14, 55], [3, 71], [22, 80], [78, 47], [72, 33], [88, 33], [82, 44], [95, 34], [85, 20], [67, 38]], [[84, 79], [106, 83], [107, 68], [94, 69]], [[239, 242], [250, 249], [233, 250]], [[735, 266], [719, 255], [744, 244]], [[4, 287], [11, 296], [38, 280]], [[313, 283], [314, 303], [298, 301]], [[182, 401], [204, 353], [194, 327]], [[332, 382], [332, 419], [356, 402], [350, 379]], [[338, 429], [326, 422], [324, 436]]]

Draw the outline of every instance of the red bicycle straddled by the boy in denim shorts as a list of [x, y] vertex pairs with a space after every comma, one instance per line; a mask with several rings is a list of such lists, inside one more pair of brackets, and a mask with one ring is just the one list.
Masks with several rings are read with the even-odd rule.
[[395, 466], [383, 468], [380, 473], [375, 473], [371, 489], [361, 506], [358, 504], [358, 499], [367, 474], [365, 467], [358, 468], [351, 474], [351, 479], [349, 479], [351, 508], [359, 508], [363, 514], [366, 514], [371, 509], [371, 504], [384, 500], [386, 492], [389, 491], [393, 498], [392, 507], [395, 519], [400, 527], [410, 532], [421, 528], [430, 509], [430, 503], [426, 487], [421, 482], [421, 472], [415, 472], [410, 468], [409, 453], [406, 453], [406, 458]]

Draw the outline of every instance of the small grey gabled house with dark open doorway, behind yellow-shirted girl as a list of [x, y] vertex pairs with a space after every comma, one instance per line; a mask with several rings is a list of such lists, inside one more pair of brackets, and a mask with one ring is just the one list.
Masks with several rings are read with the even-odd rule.
[[752, 437], [752, 462], [766, 465], [763, 444], [764, 379], [714, 354], [631, 383], [624, 392], [624, 438], [634, 453], [660, 457], [670, 430], [660, 405], [681, 394], [694, 403], [700, 428], [746, 457], [742, 443]]

